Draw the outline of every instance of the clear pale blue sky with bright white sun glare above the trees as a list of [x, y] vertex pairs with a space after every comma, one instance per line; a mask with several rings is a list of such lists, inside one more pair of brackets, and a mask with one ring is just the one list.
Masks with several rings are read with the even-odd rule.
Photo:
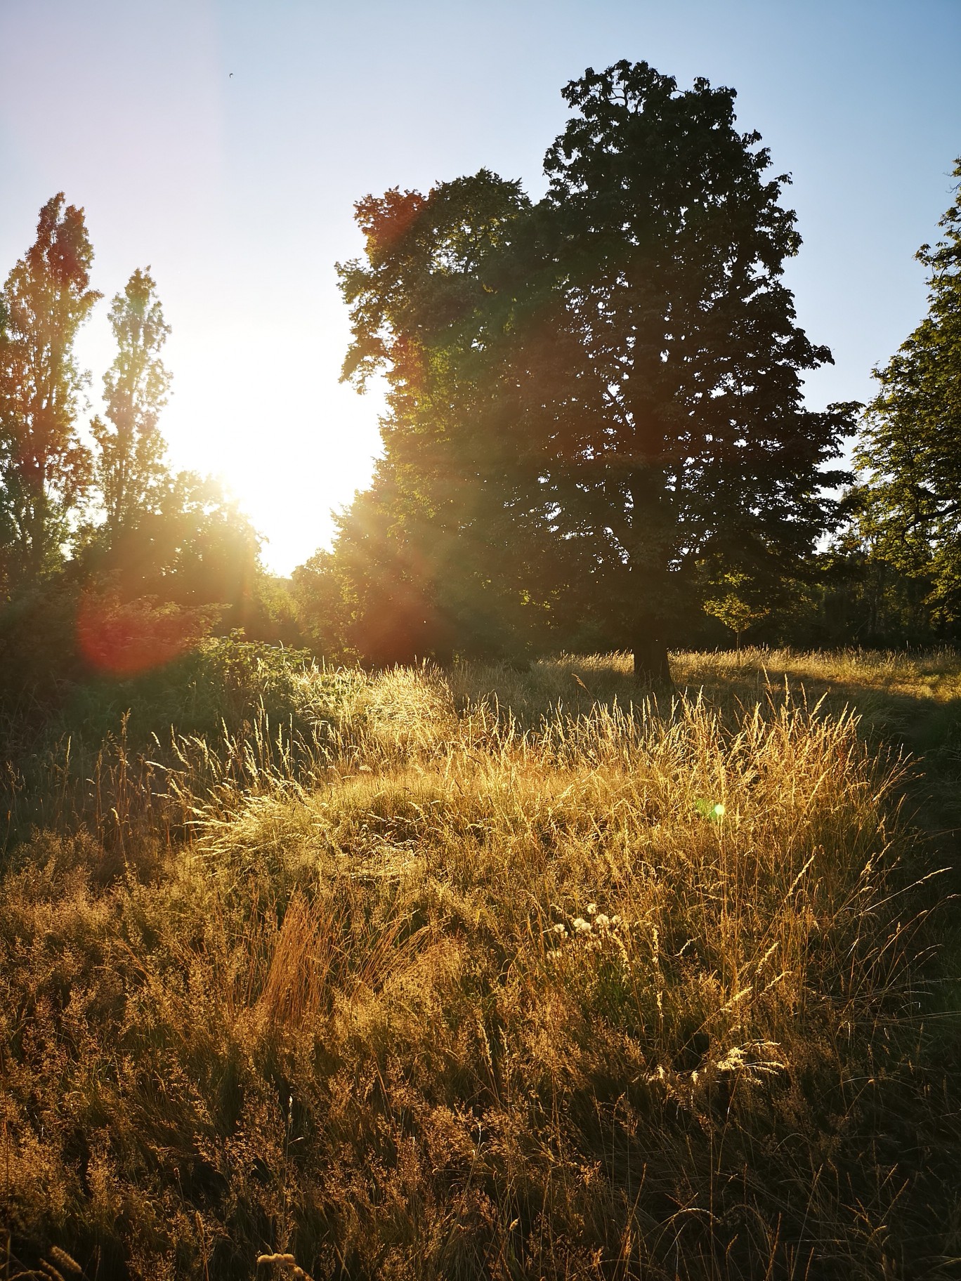
[[737, 90], [803, 246], [785, 273], [866, 400], [926, 310], [961, 155], [961, 0], [0, 0], [0, 279], [64, 191], [104, 293], [77, 352], [99, 409], [109, 300], [150, 266], [172, 336], [176, 468], [220, 475], [290, 573], [370, 477], [381, 392], [338, 382], [354, 202], [493, 169], [545, 188], [563, 86], [646, 60]]

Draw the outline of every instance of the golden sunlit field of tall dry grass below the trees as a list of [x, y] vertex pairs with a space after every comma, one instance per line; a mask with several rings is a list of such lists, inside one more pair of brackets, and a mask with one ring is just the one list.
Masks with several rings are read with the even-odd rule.
[[961, 660], [673, 666], [21, 752], [0, 1278], [961, 1275]]

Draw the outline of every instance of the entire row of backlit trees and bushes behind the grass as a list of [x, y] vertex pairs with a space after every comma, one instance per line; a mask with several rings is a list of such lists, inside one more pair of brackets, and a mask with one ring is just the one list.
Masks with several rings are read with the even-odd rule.
[[386, 377], [383, 456], [292, 582], [165, 462], [149, 269], [113, 300], [104, 418], [81, 433], [73, 346], [100, 295], [83, 211], [44, 206], [0, 295], [5, 697], [236, 629], [370, 665], [629, 649], [655, 681], [674, 646], [960, 638], [958, 204], [875, 400], [814, 411], [802, 374], [832, 357], [783, 284], [787, 178], [733, 91], [623, 61], [564, 94], [542, 200], [481, 170], [357, 202], [343, 378]]

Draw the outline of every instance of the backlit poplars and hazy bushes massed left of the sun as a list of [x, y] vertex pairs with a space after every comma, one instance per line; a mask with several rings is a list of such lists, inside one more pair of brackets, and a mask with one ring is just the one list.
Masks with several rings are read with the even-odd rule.
[[149, 270], [110, 309], [105, 420], [82, 430], [90, 378], [73, 347], [100, 295], [83, 210], [63, 193], [0, 295], [0, 703], [49, 707], [243, 628], [291, 640], [284, 589], [219, 485], [172, 473], [159, 415], [169, 327]]

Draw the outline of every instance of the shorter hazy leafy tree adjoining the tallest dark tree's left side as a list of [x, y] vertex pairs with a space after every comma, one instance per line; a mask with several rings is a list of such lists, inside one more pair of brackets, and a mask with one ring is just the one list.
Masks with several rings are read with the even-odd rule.
[[548, 529], [479, 341], [491, 273], [529, 209], [487, 170], [356, 206], [366, 255], [340, 268], [345, 378], [363, 389], [384, 370], [386, 456], [320, 562], [340, 580], [343, 644], [369, 661], [498, 652], [538, 626], [529, 584], [546, 585]]

